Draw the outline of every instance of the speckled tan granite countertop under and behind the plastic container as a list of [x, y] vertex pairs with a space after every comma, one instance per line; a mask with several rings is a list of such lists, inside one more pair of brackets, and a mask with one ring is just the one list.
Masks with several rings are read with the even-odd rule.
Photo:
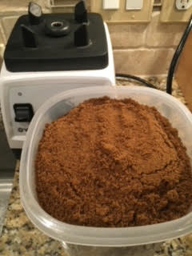
[[[150, 78], [151, 83], [160, 90], [165, 90], [165, 78]], [[130, 82], [118, 80], [117, 84], [127, 86]], [[133, 82], [131, 82], [133, 84]], [[134, 84], [138, 84], [134, 82]], [[173, 95], [183, 103], [185, 99], [176, 82], [173, 86]], [[1, 119], [1, 116], [0, 116]], [[1, 120], [0, 120], [1, 122]], [[146, 246], [133, 246], [124, 248], [94, 248], [89, 246], [63, 246], [61, 242], [42, 234], [27, 218], [22, 208], [18, 190], [18, 169], [16, 166], [13, 189], [6, 212], [6, 218], [0, 237], [1, 256], [67, 256], [67, 251], [73, 256], [190, 256], [192, 255], [192, 234], [167, 242]], [[66, 246], [68, 249], [66, 250]], [[65, 247], [65, 248], [64, 248]], [[101, 254], [101, 252], [104, 254]]]

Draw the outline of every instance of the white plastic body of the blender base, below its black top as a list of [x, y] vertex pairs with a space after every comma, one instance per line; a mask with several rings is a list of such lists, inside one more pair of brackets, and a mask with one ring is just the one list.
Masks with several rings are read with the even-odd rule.
[[102, 70], [10, 72], [2, 63], [0, 96], [2, 120], [11, 149], [22, 149], [30, 122], [15, 122], [14, 104], [30, 103], [34, 113], [54, 94], [86, 86], [115, 86], [114, 58], [105, 24], [108, 66]]

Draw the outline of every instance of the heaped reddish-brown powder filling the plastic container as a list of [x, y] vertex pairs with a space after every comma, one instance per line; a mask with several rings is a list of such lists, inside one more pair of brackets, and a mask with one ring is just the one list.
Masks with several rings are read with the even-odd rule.
[[95, 98], [46, 125], [36, 158], [40, 205], [62, 222], [140, 226], [186, 214], [190, 159], [154, 107]]

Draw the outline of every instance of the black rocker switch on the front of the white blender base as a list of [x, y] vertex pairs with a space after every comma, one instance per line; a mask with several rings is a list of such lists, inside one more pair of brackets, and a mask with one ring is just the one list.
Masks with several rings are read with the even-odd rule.
[[15, 122], [30, 122], [34, 116], [33, 106], [30, 103], [14, 104]]

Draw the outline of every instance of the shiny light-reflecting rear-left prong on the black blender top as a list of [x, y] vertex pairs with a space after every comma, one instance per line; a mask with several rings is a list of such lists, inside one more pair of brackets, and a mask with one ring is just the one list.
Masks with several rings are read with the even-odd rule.
[[35, 2], [30, 2], [28, 6], [30, 25], [38, 25], [42, 22], [42, 7]]

